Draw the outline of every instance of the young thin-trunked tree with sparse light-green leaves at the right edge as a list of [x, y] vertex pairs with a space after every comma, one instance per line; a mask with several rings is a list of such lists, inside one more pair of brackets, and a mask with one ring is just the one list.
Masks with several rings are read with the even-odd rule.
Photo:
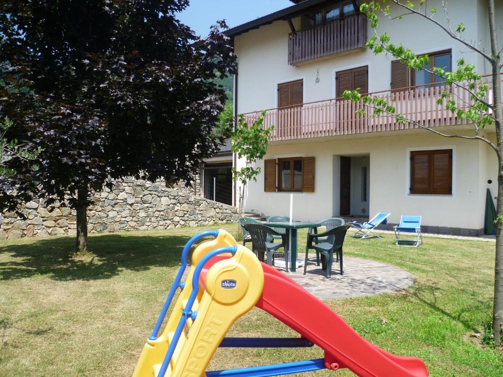
[[[444, 80], [446, 86], [438, 100], [438, 104], [445, 103], [446, 108], [454, 113], [458, 119], [469, 120], [473, 123], [475, 126], [474, 134], [472, 136], [444, 134], [434, 128], [425, 127], [422, 123], [407, 119], [402, 114], [397, 113], [392, 103], [387, 103], [379, 97], [362, 96], [356, 90], [346, 91], [344, 97], [361, 103], [363, 107], [360, 113], [362, 114], [370, 110], [372, 115], [385, 114], [393, 117], [397, 122], [411, 123], [443, 137], [478, 140], [487, 143], [496, 153], [498, 160], [498, 193], [496, 205], [497, 218], [495, 222], [496, 253], [492, 335], [494, 341], [499, 343], [503, 328], [503, 129], [501, 128], [503, 126], [503, 112], [501, 110], [501, 47], [498, 45], [497, 40], [494, 0], [487, 1], [490, 53], [485, 52], [478, 44], [465, 40], [465, 27], [463, 24], [458, 24], [453, 30], [451, 20], [448, 16], [447, 1], [442, 1], [442, 9], [446, 17], [444, 23], [437, 21], [435, 18], [437, 9], [427, 9], [427, 2], [425, 0], [415, 3], [411, 1], [391, 0], [391, 3], [395, 4], [396, 8], [400, 10], [398, 15], [391, 15], [389, 6], [381, 7], [380, 3], [375, 1], [363, 4], [360, 7], [360, 10], [367, 15], [374, 29], [374, 35], [367, 42], [367, 48], [371, 49], [375, 54], [390, 54], [393, 58], [407, 64], [411, 69], [425, 70]], [[377, 32], [379, 14], [390, 19], [402, 19], [405, 16], [420, 17], [431, 22], [432, 26], [438, 27], [439, 32], [447, 33], [450, 38], [465, 46], [469, 51], [482, 56], [491, 67], [492, 99], [489, 98], [488, 85], [481, 82], [482, 77], [475, 72], [473, 64], [467, 64], [464, 59], [459, 59], [457, 61], [457, 70], [452, 72], [447, 72], [445, 67], [428, 68], [430, 60], [427, 55], [416, 56], [409, 48], [391, 43], [391, 38], [388, 34], [379, 35]], [[466, 97], [469, 99], [463, 102], [461, 98], [457, 97], [455, 91], [451, 90], [452, 87], [466, 90], [468, 94]], [[479, 130], [491, 124], [494, 124], [496, 129], [496, 143], [479, 134]]]

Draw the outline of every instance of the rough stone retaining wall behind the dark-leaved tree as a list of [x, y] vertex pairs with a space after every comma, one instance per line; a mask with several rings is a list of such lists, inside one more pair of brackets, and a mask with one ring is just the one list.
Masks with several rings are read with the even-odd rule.
[[[166, 187], [164, 182], [116, 182], [112, 190], [95, 194], [94, 203], [88, 208], [89, 233], [194, 227], [239, 217], [235, 207], [201, 198], [194, 189]], [[76, 233], [75, 211], [59, 203], [47, 208], [44, 200], [30, 202], [21, 211], [26, 220], [14, 213], [0, 215], [1, 238]]]

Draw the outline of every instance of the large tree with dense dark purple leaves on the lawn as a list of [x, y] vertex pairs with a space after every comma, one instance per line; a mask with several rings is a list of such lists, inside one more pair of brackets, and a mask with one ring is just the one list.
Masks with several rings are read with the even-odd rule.
[[212, 127], [225, 102], [213, 78], [235, 56], [220, 33], [199, 38], [176, 19], [188, 0], [0, 3], [0, 117], [38, 170], [6, 162], [0, 209], [33, 198], [76, 210], [77, 250], [87, 249], [87, 206], [112, 180], [190, 182], [222, 140]]

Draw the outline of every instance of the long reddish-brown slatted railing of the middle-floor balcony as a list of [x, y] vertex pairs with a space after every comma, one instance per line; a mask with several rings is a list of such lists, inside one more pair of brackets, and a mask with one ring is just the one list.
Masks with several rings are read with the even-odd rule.
[[[491, 102], [492, 83], [487, 77], [484, 78], [484, 82], [489, 86], [487, 101]], [[371, 115], [372, 111], [361, 103], [330, 99], [302, 106], [267, 110], [264, 127], [274, 125], [271, 141], [281, 141], [471, 123], [447, 110], [445, 102], [437, 104], [437, 100], [445, 90], [453, 92], [453, 99], [459, 108], [468, 109], [470, 95], [462, 87], [411, 86], [400, 90], [374, 92], [370, 93], [370, 96], [384, 98], [388, 104], [396, 108], [396, 113], [402, 114], [405, 119], [413, 123], [398, 123], [391, 115]], [[356, 114], [358, 109], [365, 109], [365, 114]], [[260, 114], [261, 112], [247, 113], [244, 117], [250, 124], [257, 120]]]

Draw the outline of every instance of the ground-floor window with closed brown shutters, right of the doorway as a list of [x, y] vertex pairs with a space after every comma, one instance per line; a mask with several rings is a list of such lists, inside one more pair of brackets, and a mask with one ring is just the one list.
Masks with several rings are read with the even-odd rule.
[[410, 152], [410, 194], [452, 194], [452, 149]]

